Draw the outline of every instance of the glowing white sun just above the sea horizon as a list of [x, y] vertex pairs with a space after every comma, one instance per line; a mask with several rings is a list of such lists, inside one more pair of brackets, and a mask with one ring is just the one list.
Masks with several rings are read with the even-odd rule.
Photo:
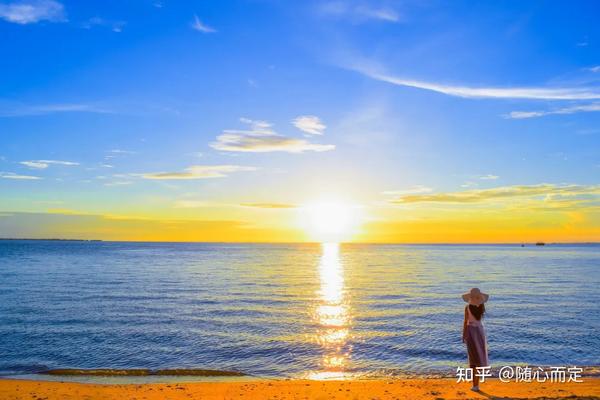
[[361, 209], [341, 201], [311, 203], [302, 208], [301, 224], [312, 240], [340, 242], [356, 233]]

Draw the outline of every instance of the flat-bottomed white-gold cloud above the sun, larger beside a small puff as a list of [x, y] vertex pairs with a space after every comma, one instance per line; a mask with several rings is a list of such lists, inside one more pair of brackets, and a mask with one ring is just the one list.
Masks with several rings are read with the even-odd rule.
[[272, 124], [266, 121], [254, 121], [242, 118], [241, 121], [250, 126], [248, 130], [225, 130], [217, 141], [210, 146], [216, 150], [233, 152], [266, 153], [283, 151], [302, 153], [305, 151], [329, 151], [335, 148], [332, 144], [311, 143], [279, 135], [272, 129]]

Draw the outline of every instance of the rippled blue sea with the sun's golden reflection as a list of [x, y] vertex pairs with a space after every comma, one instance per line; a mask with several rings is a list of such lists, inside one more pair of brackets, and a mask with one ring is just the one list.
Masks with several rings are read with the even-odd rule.
[[600, 246], [0, 241], [0, 374], [453, 374], [490, 293], [492, 366], [600, 362]]

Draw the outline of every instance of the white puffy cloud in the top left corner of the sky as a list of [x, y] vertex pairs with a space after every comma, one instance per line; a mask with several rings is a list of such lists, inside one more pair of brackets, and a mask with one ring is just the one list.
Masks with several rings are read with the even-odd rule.
[[67, 19], [64, 6], [53, 0], [0, 3], [0, 18], [21, 25], [40, 21], [63, 22]]

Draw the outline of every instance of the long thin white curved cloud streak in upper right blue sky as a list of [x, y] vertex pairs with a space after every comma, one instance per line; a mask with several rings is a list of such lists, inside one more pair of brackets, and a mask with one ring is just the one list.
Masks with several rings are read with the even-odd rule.
[[448, 85], [402, 78], [381, 72], [373, 64], [358, 63], [347, 67], [369, 78], [397, 86], [430, 90], [448, 96], [473, 99], [538, 99], [538, 100], [593, 100], [600, 99], [600, 89], [594, 87], [473, 87]]

